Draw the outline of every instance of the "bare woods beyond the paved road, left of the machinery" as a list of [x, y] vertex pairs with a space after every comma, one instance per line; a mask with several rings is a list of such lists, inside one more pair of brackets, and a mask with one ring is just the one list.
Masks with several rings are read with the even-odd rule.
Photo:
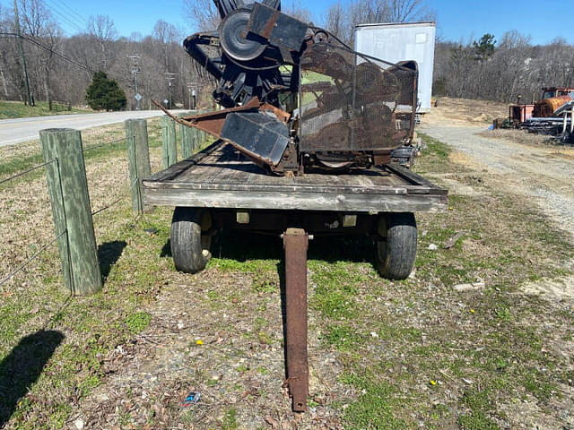
[[[90, 17], [85, 30], [65, 36], [42, 0], [18, 0], [22, 42], [30, 90], [35, 100], [85, 103], [94, 75], [105, 72], [126, 91], [127, 108], [135, 108], [136, 86], [143, 99], [173, 99], [188, 105], [189, 83], [201, 80], [182, 47], [184, 33], [158, 20], [151, 34], [119, 37], [114, 22], [104, 15]], [[0, 99], [26, 100], [22, 58], [16, 43], [12, 8], [0, 4]], [[170, 73], [170, 74], [166, 74]]]

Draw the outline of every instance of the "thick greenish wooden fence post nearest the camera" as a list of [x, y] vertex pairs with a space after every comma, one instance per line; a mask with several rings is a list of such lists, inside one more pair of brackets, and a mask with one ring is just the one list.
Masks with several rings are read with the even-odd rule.
[[90, 195], [83, 160], [82, 135], [77, 130], [39, 132], [46, 166], [57, 247], [64, 285], [74, 295], [86, 296], [102, 287], [98, 250], [93, 233]]

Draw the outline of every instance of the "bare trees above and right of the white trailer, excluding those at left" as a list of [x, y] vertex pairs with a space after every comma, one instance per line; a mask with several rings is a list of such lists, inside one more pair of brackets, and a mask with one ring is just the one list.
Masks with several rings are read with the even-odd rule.
[[[337, 2], [326, 13], [326, 29], [352, 46], [352, 29], [360, 23], [435, 21], [424, 0]], [[384, 58], [383, 58], [384, 59]], [[500, 39], [485, 33], [477, 40], [437, 39], [433, 94], [464, 99], [522, 102], [540, 99], [543, 87], [574, 85], [574, 46], [557, 38], [534, 45], [509, 30]]]

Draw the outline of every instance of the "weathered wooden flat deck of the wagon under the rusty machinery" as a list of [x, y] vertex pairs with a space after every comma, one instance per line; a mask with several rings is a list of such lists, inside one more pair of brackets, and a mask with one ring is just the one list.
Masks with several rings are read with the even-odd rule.
[[396, 165], [351, 173], [271, 176], [225, 142], [143, 180], [149, 206], [417, 212], [448, 208], [447, 190]]

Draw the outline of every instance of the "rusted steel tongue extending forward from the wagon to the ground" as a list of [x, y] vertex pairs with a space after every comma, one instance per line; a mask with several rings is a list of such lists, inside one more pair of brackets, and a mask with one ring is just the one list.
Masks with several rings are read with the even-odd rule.
[[285, 358], [292, 409], [307, 410], [309, 365], [307, 357], [307, 248], [302, 228], [287, 228], [285, 249]]

